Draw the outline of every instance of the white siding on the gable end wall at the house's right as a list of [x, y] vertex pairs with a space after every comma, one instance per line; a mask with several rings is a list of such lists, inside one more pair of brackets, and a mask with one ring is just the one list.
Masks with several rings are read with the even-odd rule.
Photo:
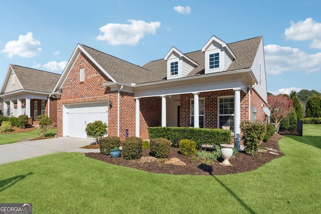
[[[260, 74], [260, 65], [261, 65], [261, 74]], [[256, 56], [253, 61], [251, 70], [257, 80], [257, 86], [255, 90], [259, 96], [267, 102], [267, 86], [266, 86], [266, 73], [265, 73], [265, 61], [264, 61], [264, 48], [263, 48], [263, 39], [260, 42], [259, 48], [256, 52]]]

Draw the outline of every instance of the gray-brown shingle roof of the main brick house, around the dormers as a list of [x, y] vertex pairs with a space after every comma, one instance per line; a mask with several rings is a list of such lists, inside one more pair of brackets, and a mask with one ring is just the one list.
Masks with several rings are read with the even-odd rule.
[[[237, 59], [231, 63], [227, 71], [250, 68], [253, 64], [261, 39], [262, 37], [255, 37], [228, 44]], [[88, 46], [81, 46], [119, 83], [140, 84], [166, 80], [167, 62], [164, 59], [151, 61], [144, 66], [139, 67]], [[188, 76], [203, 75], [205, 73], [204, 53], [200, 50], [185, 55], [199, 64], [199, 66], [193, 69]]]

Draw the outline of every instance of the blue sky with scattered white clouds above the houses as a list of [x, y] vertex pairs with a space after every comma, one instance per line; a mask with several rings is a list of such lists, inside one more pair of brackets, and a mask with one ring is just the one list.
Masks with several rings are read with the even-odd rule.
[[267, 89], [321, 91], [321, 1], [1, 1], [0, 81], [9, 64], [61, 74], [77, 43], [136, 65], [175, 46], [263, 36]]

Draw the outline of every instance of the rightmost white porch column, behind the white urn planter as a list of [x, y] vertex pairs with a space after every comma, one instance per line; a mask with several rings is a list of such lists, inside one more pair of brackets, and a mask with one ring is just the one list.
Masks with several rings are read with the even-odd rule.
[[241, 150], [240, 138], [241, 138], [241, 96], [240, 89], [234, 90], [234, 147], [238, 151]]

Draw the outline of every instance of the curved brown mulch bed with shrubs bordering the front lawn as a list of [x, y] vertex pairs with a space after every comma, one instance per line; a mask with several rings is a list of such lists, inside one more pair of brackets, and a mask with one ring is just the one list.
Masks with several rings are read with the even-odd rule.
[[[272, 136], [268, 142], [262, 143], [262, 147], [272, 148], [279, 150], [277, 141], [283, 136], [275, 134]], [[143, 157], [148, 157], [149, 149], [144, 149], [142, 151]], [[222, 175], [222, 174], [235, 174], [239, 172], [251, 171], [263, 166], [265, 163], [271, 161], [274, 158], [283, 156], [282, 152], [277, 152], [278, 155], [269, 152], [259, 152], [256, 156], [252, 157], [244, 152], [237, 152], [237, 154], [230, 159], [233, 166], [224, 166], [220, 162], [223, 159], [213, 161], [214, 164], [202, 163], [202, 161], [191, 161], [189, 156], [185, 156], [179, 153], [179, 148], [171, 148], [170, 156], [166, 159], [172, 157], [177, 157], [186, 166], [178, 166], [171, 164], [164, 164], [164, 159], [157, 159], [158, 161], [146, 163], [141, 160], [124, 160], [122, 157], [111, 158], [110, 155], [103, 155], [100, 153], [85, 153], [87, 157], [98, 159], [104, 162], [108, 162], [115, 165], [126, 166], [131, 168], [136, 168], [139, 170], [144, 170], [154, 173], [167, 173], [167, 174], [190, 174], [190, 175]]]

